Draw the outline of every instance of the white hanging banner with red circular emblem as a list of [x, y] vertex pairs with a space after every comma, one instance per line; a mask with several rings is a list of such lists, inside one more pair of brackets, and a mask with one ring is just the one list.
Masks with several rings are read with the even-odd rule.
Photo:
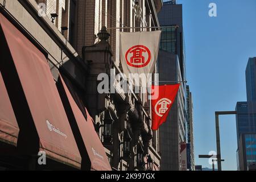
[[129, 80], [132, 73], [133, 78], [139, 76], [140, 85], [147, 83], [158, 59], [160, 35], [161, 31], [120, 32], [120, 59], [123, 73]]

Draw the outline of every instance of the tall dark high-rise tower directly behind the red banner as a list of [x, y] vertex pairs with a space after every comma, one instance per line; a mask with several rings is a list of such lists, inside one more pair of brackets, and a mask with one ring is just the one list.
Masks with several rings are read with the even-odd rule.
[[158, 13], [162, 36], [158, 60], [160, 84], [181, 82], [166, 123], [160, 127], [161, 170], [180, 170], [180, 144], [186, 142], [187, 91], [183, 49], [182, 5], [164, 2]]

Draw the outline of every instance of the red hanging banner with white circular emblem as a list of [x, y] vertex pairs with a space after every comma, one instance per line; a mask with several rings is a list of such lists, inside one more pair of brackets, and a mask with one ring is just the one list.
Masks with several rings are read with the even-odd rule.
[[175, 100], [180, 84], [152, 85], [152, 96], [158, 96], [151, 100], [152, 130], [158, 130], [166, 118]]

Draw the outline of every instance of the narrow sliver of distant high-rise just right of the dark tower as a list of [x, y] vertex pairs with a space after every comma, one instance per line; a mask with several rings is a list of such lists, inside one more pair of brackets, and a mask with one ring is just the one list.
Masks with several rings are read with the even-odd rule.
[[188, 169], [195, 170], [195, 154], [194, 154], [194, 138], [193, 138], [193, 101], [192, 93], [187, 85], [187, 143], [189, 148], [187, 152], [189, 156]]

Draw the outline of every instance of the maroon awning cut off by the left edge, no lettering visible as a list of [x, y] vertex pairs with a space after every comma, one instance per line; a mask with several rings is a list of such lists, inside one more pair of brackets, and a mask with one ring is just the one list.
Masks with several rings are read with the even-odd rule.
[[0, 72], [0, 142], [16, 146], [18, 135], [19, 126]]

